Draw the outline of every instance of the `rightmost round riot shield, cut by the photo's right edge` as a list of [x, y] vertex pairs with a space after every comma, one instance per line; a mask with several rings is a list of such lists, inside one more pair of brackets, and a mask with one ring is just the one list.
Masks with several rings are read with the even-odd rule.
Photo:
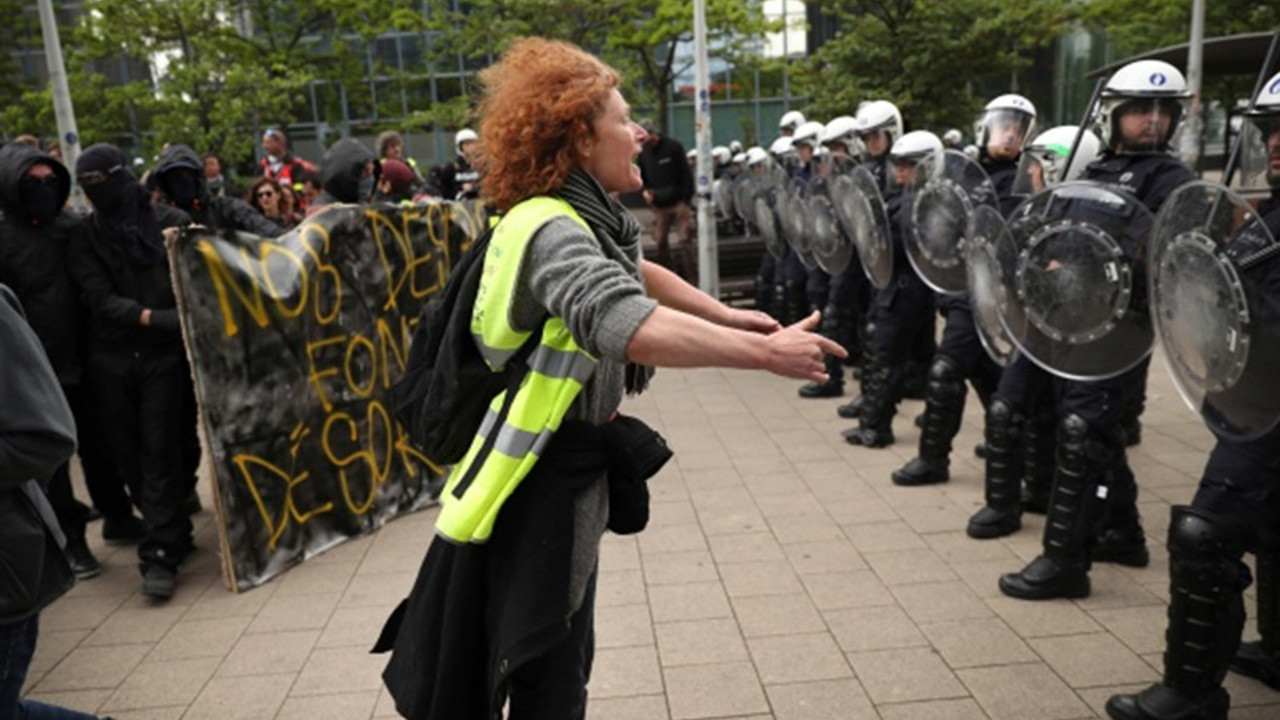
[[1152, 319], [1183, 400], [1219, 436], [1267, 433], [1280, 420], [1280, 264], [1258, 260], [1276, 254], [1275, 237], [1210, 182], [1170, 195], [1152, 234]]

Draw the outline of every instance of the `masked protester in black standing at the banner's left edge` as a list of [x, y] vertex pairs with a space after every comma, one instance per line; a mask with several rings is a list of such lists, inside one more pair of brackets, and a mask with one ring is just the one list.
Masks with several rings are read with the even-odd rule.
[[191, 480], [184, 471], [195, 401], [161, 231], [191, 224], [191, 218], [152, 206], [115, 146], [86, 150], [76, 177], [93, 204], [88, 232], [72, 241], [69, 258], [93, 318], [93, 400], [146, 523], [138, 544], [142, 592], [166, 600], [179, 564], [193, 548], [186, 509]]

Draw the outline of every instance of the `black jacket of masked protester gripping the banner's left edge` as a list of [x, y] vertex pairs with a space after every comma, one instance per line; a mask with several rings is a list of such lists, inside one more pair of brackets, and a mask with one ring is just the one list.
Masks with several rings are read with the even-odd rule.
[[[141, 186], [140, 186], [141, 188]], [[191, 224], [186, 213], [164, 205], [147, 206], [164, 228]], [[140, 256], [132, 238], [102, 218], [90, 215], [88, 232], [72, 241], [69, 266], [81, 300], [92, 315], [90, 351], [182, 354], [182, 333], [169, 261], [161, 250]], [[151, 324], [141, 324], [142, 310]]]

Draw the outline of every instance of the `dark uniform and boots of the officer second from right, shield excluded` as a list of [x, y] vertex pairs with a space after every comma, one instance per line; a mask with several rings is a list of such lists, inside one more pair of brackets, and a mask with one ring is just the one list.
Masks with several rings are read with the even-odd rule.
[[[1108, 152], [1085, 169], [1084, 179], [1123, 190], [1155, 214], [1193, 176], [1171, 155]], [[1124, 409], [1142, 392], [1148, 363], [1102, 380], [1053, 380], [1059, 446], [1044, 552], [1020, 573], [1000, 579], [1005, 594], [1087, 597], [1091, 560], [1130, 566], [1149, 561], [1138, 516], [1138, 484], [1121, 433]]]

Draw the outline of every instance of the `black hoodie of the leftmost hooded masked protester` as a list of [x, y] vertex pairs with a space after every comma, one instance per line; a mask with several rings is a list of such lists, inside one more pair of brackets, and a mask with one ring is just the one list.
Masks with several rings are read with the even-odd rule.
[[63, 208], [70, 195], [70, 173], [58, 160], [18, 142], [0, 149], [0, 284], [9, 286], [22, 301], [58, 380], [69, 386], [78, 383], [84, 370], [87, 315], [67, 272], [67, 249], [86, 229], [69, 213], [46, 222], [28, 217], [20, 183], [36, 163], [54, 170], [55, 208]]

